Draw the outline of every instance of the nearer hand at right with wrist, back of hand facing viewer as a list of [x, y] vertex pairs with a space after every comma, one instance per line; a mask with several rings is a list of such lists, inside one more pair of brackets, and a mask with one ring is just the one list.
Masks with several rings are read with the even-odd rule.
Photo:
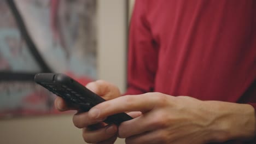
[[118, 136], [125, 138], [126, 143], [200, 144], [248, 140], [255, 136], [255, 112], [251, 105], [201, 101], [162, 93], [126, 95], [108, 100], [92, 107], [86, 118], [101, 121], [124, 111], [141, 112], [119, 125]]

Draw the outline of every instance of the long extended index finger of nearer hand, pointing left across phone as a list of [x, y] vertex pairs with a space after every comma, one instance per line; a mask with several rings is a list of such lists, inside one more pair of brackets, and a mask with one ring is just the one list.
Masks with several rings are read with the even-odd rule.
[[[141, 95], [126, 95], [112, 100], [104, 101], [89, 111], [91, 119], [101, 119], [115, 113], [124, 111], [141, 111], [152, 110], [159, 101], [156, 97], [158, 93], [146, 93]], [[165, 94], [161, 94], [163, 97]]]

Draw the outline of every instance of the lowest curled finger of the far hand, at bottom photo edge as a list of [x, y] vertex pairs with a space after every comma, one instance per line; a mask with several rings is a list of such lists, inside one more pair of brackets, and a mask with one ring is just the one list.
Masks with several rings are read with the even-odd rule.
[[83, 129], [83, 138], [85, 142], [97, 143], [109, 140], [117, 135], [117, 125], [111, 124], [97, 130]]

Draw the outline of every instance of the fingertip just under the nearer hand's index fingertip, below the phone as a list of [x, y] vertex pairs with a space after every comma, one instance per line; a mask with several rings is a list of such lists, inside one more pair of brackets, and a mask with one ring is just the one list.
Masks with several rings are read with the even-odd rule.
[[75, 127], [81, 129], [81, 128], [88, 127], [89, 125], [92, 125], [95, 123], [100, 123], [100, 122], [104, 121], [104, 119], [95, 121], [95, 119], [89, 118], [88, 112], [78, 112], [73, 116], [73, 123], [74, 123]]

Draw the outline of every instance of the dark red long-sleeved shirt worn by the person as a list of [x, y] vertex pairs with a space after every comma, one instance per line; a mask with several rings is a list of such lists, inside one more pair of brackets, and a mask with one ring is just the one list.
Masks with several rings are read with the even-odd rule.
[[256, 108], [256, 2], [136, 1], [128, 86]]

